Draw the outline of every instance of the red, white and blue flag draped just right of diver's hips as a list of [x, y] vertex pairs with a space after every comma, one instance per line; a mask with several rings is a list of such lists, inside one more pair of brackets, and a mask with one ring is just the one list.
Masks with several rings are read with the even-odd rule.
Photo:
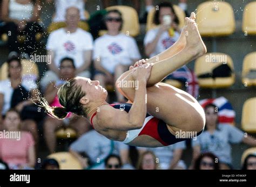
[[219, 123], [234, 124], [235, 111], [230, 102], [225, 97], [219, 97], [215, 99], [203, 99], [199, 100], [202, 107], [207, 104], [214, 104], [218, 107]]

